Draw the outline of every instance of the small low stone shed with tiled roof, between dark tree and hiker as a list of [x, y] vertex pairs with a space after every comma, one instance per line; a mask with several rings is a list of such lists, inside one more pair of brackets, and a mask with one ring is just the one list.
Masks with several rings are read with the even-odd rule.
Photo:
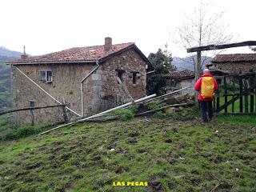
[[166, 79], [166, 92], [180, 90], [187, 86], [192, 86], [186, 90], [182, 90], [181, 94], [194, 95], [194, 72], [190, 70], [171, 71], [163, 75]]

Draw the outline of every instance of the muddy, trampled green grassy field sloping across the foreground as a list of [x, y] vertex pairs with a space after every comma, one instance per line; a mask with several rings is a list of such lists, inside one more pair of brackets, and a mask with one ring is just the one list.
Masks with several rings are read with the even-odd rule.
[[85, 123], [0, 142], [0, 191], [256, 191], [255, 117], [177, 119]]

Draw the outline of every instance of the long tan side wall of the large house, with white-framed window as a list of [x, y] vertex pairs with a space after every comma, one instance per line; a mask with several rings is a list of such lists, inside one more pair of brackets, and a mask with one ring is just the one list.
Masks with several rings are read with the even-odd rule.
[[[71, 110], [81, 114], [80, 81], [93, 69], [93, 64], [37, 64], [18, 65], [17, 67], [59, 102], [65, 100], [70, 105]], [[40, 70], [51, 70], [53, 82], [42, 82], [40, 80]], [[35, 106], [58, 104], [16, 70], [14, 66], [12, 72], [14, 109], [29, 107], [30, 100], [34, 100]], [[78, 117], [73, 113], [69, 112], [69, 114], [70, 118]], [[35, 122], [59, 122], [62, 121], [62, 111], [58, 108], [35, 110], [34, 117]], [[18, 123], [30, 122], [30, 112], [15, 113], [14, 120]]]

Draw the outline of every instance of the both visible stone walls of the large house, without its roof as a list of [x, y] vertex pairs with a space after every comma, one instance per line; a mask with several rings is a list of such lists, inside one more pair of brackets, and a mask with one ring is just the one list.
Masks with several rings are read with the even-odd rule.
[[[130, 98], [118, 83], [118, 71], [122, 71], [122, 82], [126, 85], [134, 99], [146, 96], [146, 61], [134, 49], [130, 48], [114, 57], [100, 63], [98, 69], [83, 82], [84, 114], [89, 116], [114, 106], [130, 102]], [[13, 65], [13, 97], [14, 108], [30, 106], [34, 101], [35, 106], [58, 105], [42, 90], [38, 89], [28, 78], [21, 74], [15, 67], [22, 70], [29, 78], [46, 90], [59, 102], [65, 101], [71, 110], [82, 113], [82, 98], [80, 82], [96, 67], [96, 63], [55, 63], [55, 64], [27, 64]], [[52, 82], [41, 82], [40, 71], [50, 70]], [[69, 118], [78, 118], [68, 112]], [[62, 122], [62, 109], [50, 108], [34, 110], [35, 122]], [[14, 113], [17, 123], [29, 123], [30, 112]]]

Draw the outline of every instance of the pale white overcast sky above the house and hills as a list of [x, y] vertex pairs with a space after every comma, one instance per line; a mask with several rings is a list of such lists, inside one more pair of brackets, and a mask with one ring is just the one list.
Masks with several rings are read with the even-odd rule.
[[[204, 1], [205, 2], [205, 1]], [[234, 40], [256, 40], [255, 0], [212, 0], [214, 9], [226, 10]], [[146, 56], [169, 44], [174, 56], [186, 51], [172, 44], [174, 31], [198, 0], [1, 0], [0, 46], [40, 55], [75, 46], [135, 42]], [[230, 49], [226, 53], [250, 53]]]

